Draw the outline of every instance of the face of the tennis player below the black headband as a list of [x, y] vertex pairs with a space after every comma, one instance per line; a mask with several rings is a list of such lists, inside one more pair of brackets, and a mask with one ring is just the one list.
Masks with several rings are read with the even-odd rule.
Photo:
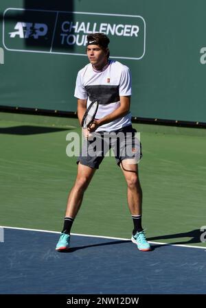
[[99, 45], [88, 45], [87, 46], [87, 56], [93, 67], [101, 69], [107, 63], [106, 51], [102, 49]]

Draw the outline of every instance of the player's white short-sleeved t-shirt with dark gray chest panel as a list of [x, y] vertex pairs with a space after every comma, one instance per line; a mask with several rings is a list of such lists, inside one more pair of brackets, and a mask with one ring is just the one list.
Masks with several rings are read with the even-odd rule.
[[[98, 100], [99, 108], [95, 116], [102, 119], [119, 107], [119, 96], [129, 96], [131, 91], [131, 76], [126, 65], [110, 60], [104, 71], [95, 71], [92, 64], [87, 64], [78, 72], [74, 96], [78, 99], [87, 99], [87, 108]], [[131, 114], [128, 112], [120, 117], [100, 126], [96, 132], [111, 132], [131, 124]]]

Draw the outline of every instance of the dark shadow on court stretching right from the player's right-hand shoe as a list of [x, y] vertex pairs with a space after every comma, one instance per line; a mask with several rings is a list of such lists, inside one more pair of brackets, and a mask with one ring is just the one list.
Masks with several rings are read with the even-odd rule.
[[149, 237], [148, 241], [155, 241], [158, 239], [177, 239], [177, 238], [183, 238], [183, 237], [191, 237], [191, 239], [185, 240], [185, 241], [172, 241], [170, 244], [198, 244], [201, 243], [201, 235], [203, 232], [201, 232], [200, 229], [188, 231], [185, 233], [175, 233], [170, 235], [159, 235], [158, 237]]

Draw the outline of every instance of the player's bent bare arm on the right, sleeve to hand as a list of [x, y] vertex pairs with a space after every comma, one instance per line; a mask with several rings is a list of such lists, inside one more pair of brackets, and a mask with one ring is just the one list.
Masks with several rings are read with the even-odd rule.
[[89, 130], [93, 132], [93, 130], [96, 130], [99, 126], [114, 121], [115, 119], [118, 119], [120, 117], [124, 117], [124, 115], [127, 115], [129, 110], [130, 110], [130, 96], [120, 96], [119, 107], [115, 109], [113, 112], [111, 112], [109, 115], [103, 117], [102, 119], [95, 120], [94, 123], [91, 124]]

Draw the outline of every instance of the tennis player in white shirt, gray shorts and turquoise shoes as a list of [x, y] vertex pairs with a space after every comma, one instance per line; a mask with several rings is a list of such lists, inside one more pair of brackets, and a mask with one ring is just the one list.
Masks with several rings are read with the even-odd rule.
[[[82, 204], [84, 191], [87, 189], [96, 169], [104, 159], [104, 151], [90, 155], [87, 152], [93, 139], [93, 133], [104, 137], [110, 133], [125, 136], [124, 142], [113, 142], [110, 138], [109, 148], [113, 148], [117, 165], [121, 167], [127, 183], [128, 208], [133, 219], [131, 240], [142, 251], [150, 250], [144, 229], [141, 226], [142, 191], [138, 176], [137, 154], [141, 158], [141, 144], [135, 137], [130, 114], [131, 76], [128, 67], [120, 62], [109, 60], [109, 38], [101, 33], [87, 36], [87, 56], [89, 64], [78, 72], [74, 96], [78, 99], [78, 119], [80, 123], [84, 112], [93, 100], [98, 100], [99, 107], [93, 123], [84, 129], [85, 141], [78, 158], [78, 174], [67, 201], [64, 226], [56, 250], [68, 250], [70, 230]], [[130, 137], [127, 138], [126, 136]], [[106, 142], [107, 142], [106, 141]], [[125, 151], [125, 149], [127, 151]]]

